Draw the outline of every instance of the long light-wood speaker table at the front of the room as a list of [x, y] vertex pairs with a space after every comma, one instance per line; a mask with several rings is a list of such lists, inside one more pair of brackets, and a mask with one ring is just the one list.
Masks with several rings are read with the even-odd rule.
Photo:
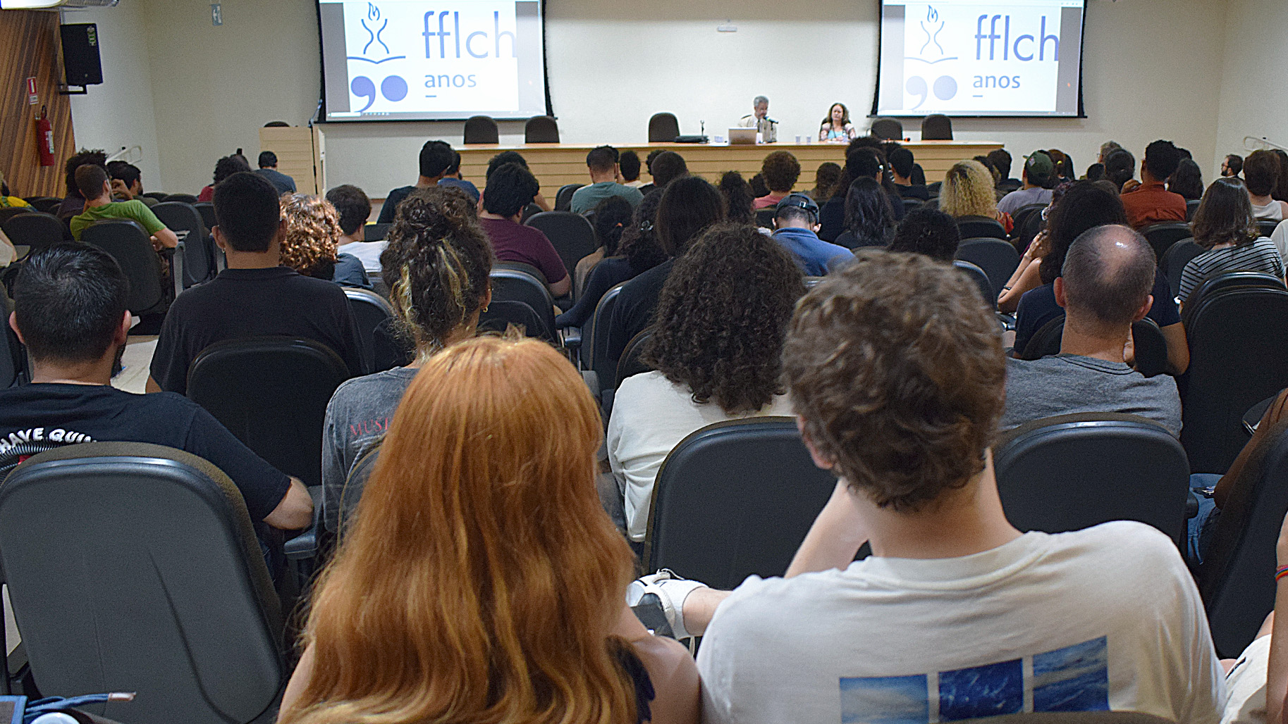
[[[927, 140], [904, 143], [926, 171], [926, 181], [942, 181], [948, 168], [962, 159], [985, 156], [1002, 148], [993, 141]], [[482, 190], [487, 177], [487, 163], [502, 150], [518, 150], [528, 162], [528, 168], [541, 181], [541, 193], [550, 203], [555, 192], [564, 184], [589, 184], [586, 171], [586, 152], [594, 145], [567, 143], [532, 143], [524, 145], [471, 144], [459, 147], [461, 152], [461, 175]], [[765, 156], [774, 150], [790, 150], [801, 162], [801, 177], [796, 190], [814, 188], [814, 170], [826, 161], [845, 165], [845, 144], [828, 143], [770, 143], [757, 145], [716, 145], [696, 143], [650, 143], [614, 147], [618, 150], [634, 150], [640, 157], [640, 179], [648, 181], [648, 168], [644, 159], [653, 149], [674, 150], [684, 157], [689, 172], [715, 183], [725, 171], [739, 171], [744, 179], [760, 172]], [[1021, 159], [1023, 162], [1023, 159]]]

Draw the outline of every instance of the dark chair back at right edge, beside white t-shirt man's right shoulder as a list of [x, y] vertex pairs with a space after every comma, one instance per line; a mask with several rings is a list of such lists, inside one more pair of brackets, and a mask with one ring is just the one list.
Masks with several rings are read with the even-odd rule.
[[1230, 486], [1199, 566], [1199, 593], [1222, 657], [1239, 656], [1275, 604], [1275, 541], [1288, 511], [1288, 421], [1266, 432]]

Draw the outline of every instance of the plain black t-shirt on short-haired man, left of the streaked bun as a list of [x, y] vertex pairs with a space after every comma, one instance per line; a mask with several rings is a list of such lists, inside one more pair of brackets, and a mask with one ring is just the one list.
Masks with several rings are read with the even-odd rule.
[[152, 378], [166, 392], [188, 391], [188, 367], [224, 339], [286, 336], [313, 339], [363, 374], [362, 343], [344, 291], [286, 266], [225, 269], [170, 305], [161, 325]]

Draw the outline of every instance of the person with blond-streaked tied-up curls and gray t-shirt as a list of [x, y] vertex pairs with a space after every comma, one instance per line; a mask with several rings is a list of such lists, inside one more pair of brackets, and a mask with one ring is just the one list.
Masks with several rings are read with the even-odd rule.
[[[447, 188], [403, 199], [389, 229], [384, 280], [394, 330], [415, 348], [407, 367], [346, 381], [326, 409], [322, 432], [322, 517], [327, 530], [348, 526], [344, 486], [358, 458], [389, 431], [407, 386], [429, 357], [474, 336], [492, 298], [492, 248], [470, 199]], [[349, 500], [358, 496], [352, 495]]]

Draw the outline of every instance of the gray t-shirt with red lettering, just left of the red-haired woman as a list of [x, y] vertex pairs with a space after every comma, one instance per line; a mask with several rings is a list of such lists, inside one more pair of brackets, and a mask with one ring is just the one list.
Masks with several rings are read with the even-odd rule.
[[339, 530], [344, 482], [362, 453], [384, 439], [402, 394], [419, 369], [399, 367], [340, 385], [326, 406], [322, 428], [322, 520]]

